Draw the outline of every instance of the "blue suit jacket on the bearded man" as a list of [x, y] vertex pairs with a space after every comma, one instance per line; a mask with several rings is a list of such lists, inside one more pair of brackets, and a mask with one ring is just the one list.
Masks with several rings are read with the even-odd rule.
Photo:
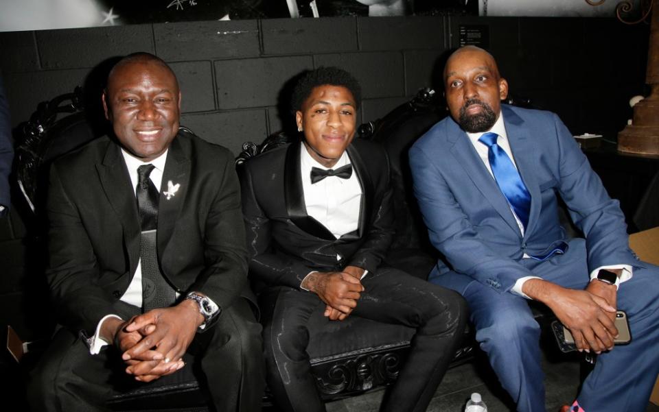
[[454, 279], [442, 284], [459, 290], [473, 278], [505, 292], [519, 278], [533, 276], [520, 264], [524, 253], [542, 255], [568, 241], [559, 223], [557, 194], [586, 237], [589, 270], [639, 266], [629, 250], [618, 201], [608, 196], [557, 115], [507, 105], [501, 112], [513, 157], [531, 193], [524, 237], [494, 178], [452, 118], [433, 126], [410, 150], [414, 191], [430, 241], [456, 272], [470, 276], [449, 273]]

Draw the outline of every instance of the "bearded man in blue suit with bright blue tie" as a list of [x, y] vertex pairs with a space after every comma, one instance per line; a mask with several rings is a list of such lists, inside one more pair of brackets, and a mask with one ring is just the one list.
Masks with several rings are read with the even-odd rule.
[[[570, 411], [644, 411], [659, 372], [659, 268], [629, 249], [618, 201], [558, 117], [500, 104], [508, 84], [489, 53], [458, 49], [444, 80], [450, 117], [410, 151], [430, 241], [454, 269], [437, 265], [429, 280], [466, 298], [518, 411], [545, 411], [528, 299], [546, 304], [580, 351], [599, 354]], [[567, 239], [557, 194], [585, 239]], [[616, 308], [634, 340], [614, 348]]]

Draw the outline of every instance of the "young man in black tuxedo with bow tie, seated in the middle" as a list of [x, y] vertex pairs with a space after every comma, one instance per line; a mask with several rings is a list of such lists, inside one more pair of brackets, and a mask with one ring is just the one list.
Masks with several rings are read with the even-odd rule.
[[359, 94], [343, 70], [307, 73], [293, 98], [303, 141], [240, 173], [249, 274], [268, 286], [259, 297], [268, 387], [286, 411], [325, 410], [306, 348], [329, 322], [417, 329], [382, 409], [396, 412], [426, 410], [465, 326], [459, 295], [382, 265], [394, 236], [389, 162], [382, 147], [352, 140]]

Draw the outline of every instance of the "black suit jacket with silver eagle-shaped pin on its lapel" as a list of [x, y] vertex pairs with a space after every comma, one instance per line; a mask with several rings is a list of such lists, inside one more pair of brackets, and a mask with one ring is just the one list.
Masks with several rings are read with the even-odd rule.
[[[170, 199], [167, 182], [180, 184]], [[172, 141], [159, 198], [157, 255], [185, 294], [226, 308], [246, 290], [240, 186], [233, 156], [183, 130]], [[139, 260], [140, 223], [121, 149], [108, 137], [51, 167], [47, 278], [58, 321], [93, 334], [128, 289]]]

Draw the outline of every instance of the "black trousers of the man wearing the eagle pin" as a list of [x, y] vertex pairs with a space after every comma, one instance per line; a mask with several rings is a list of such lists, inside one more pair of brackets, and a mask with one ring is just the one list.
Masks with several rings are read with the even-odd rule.
[[[207, 384], [218, 412], [261, 411], [265, 385], [262, 328], [249, 305], [244, 298], [238, 298], [233, 306], [223, 309], [218, 322], [197, 333], [183, 356], [184, 369], [192, 367], [200, 384]], [[124, 319], [138, 313], [135, 306], [117, 304], [117, 314]], [[113, 346], [106, 346], [99, 354], [89, 354], [82, 337], [60, 328], [32, 373], [28, 387], [30, 409], [106, 411], [106, 401], [111, 396], [156, 384], [139, 383], [125, 369], [119, 350]], [[180, 370], [158, 380], [175, 383], [182, 375]]]

